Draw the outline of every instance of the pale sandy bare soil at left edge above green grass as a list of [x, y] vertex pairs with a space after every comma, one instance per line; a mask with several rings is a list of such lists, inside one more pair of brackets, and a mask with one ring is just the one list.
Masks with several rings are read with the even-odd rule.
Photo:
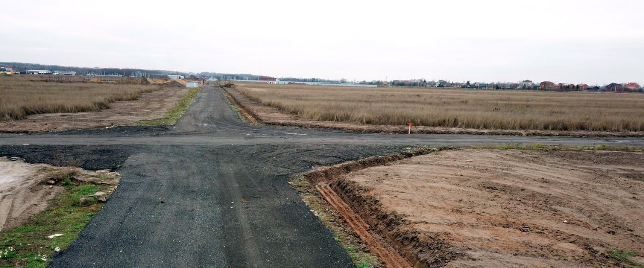
[[31, 216], [43, 211], [48, 200], [63, 193], [60, 185], [47, 185], [53, 172], [74, 169], [79, 181], [98, 182], [113, 180], [118, 184], [120, 175], [107, 170], [86, 171], [81, 168], [54, 167], [47, 164], [27, 164], [23, 160], [0, 158], [0, 231], [23, 225]]

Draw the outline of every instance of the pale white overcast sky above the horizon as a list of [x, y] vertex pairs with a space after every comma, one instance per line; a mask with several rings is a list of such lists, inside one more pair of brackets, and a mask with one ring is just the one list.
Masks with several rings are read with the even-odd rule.
[[348, 80], [644, 82], [644, 1], [11, 1], [0, 61]]

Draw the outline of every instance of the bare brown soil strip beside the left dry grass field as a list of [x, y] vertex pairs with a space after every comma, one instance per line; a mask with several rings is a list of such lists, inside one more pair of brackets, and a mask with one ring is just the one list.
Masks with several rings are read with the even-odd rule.
[[79, 128], [131, 126], [142, 120], [160, 119], [173, 108], [188, 88], [166, 88], [149, 93], [135, 101], [109, 104], [109, 109], [82, 113], [45, 113], [24, 120], [0, 121], [0, 132], [62, 131]]

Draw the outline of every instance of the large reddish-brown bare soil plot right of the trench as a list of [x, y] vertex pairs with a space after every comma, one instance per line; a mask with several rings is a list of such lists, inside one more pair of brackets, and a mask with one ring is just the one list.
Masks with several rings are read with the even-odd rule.
[[[332, 187], [363, 202], [357, 212], [371, 223], [397, 224], [387, 236], [407, 253], [422, 244], [415, 254], [435, 265], [621, 266], [612, 249], [644, 254], [643, 162], [617, 151], [459, 149], [355, 171]], [[374, 206], [386, 213], [365, 215]]]

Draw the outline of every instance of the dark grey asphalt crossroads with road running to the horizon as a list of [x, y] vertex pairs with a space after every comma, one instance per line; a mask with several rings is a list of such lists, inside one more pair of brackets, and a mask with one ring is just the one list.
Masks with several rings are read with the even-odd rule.
[[122, 180], [50, 267], [353, 267], [287, 179], [415, 145], [644, 146], [644, 139], [388, 135], [251, 126], [207, 86], [173, 127], [0, 135], [0, 155], [62, 153]]

